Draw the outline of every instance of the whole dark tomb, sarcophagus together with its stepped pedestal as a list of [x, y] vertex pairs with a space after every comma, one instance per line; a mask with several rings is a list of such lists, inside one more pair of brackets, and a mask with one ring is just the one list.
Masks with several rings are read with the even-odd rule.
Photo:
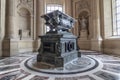
[[40, 36], [41, 46], [37, 61], [63, 67], [65, 63], [79, 57], [77, 37], [69, 32], [75, 20], [58, 10], [41, 17], [45, 19], [50, 31]]

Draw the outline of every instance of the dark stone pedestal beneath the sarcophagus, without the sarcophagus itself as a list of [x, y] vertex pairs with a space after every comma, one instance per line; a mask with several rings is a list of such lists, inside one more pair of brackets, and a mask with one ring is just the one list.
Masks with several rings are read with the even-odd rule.
[[38, 62], [46, 62], [55, 67], [63, 67], [65, 63], [80, 56], [77, 51], [76, 37], [71, 33], [46, 34], [40, 36], [41, 47], [37, 56]]

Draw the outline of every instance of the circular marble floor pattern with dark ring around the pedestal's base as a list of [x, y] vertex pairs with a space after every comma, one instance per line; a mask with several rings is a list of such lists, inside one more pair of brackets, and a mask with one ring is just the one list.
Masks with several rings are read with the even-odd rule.
[[[65, 74], [76, 74], [76, 73], [91, 71], [99, 66], [99, 61], [97, 61], [92, 57], [82, 56], [65, 64], [65, 66], [62, 68], [42, 69], [41, 64], [42, 63], [38, 64], [36, 62], [35, 57], [29, 58], [24, 62], [25, 67], [35, 72], [54, 74], [54, 75], [55, 74], [65, 75]], [[42, 64], [42, 66], [46, 66], [46, 65]]]

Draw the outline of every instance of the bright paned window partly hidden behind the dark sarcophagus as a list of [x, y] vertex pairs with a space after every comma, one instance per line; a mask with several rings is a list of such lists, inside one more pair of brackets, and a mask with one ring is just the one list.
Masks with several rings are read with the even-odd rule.
[[[52, 12], [54, 10], [59, 10], [63, 12], [63, 6], [60, 4], [47, 4], [46, 13]], [[48, 32], [49, 30], [50, 30], [49, 27], [46, 26], [46, 32]]]

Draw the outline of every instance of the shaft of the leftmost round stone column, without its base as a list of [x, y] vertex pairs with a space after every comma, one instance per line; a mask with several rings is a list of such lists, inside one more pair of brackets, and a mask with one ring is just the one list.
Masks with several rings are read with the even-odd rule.
[[6, 25], [5, 25], [5, 38], [12, 39], [14, 38], [14, 0], [6, 0]]

